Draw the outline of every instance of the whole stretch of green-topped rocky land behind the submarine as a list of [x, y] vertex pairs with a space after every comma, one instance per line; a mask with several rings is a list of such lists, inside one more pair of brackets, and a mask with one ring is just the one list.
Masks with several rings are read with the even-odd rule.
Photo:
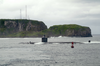
[[92, 37], [89, 27], [76, 24], [54, 25], [50, 28], [42, 21], [27, 19], [0, 19], [0, 37]]

